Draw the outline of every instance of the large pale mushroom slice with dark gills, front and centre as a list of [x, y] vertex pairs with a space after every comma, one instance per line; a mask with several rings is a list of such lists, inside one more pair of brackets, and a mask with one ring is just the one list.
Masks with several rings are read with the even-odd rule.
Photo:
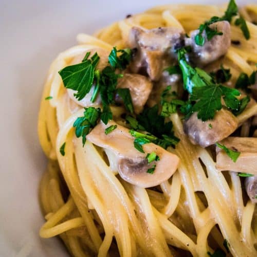
[[[105, 135], [105, 128], [111, 125], [117, 125], [117, 128]], [[179, 158], [154, 143], [143, 145], [145, 153], [136, 150], [134, 137], [129, 130], [114, 121], [109, 121], [107, 125], [100, 122], [86, 138], [101, 148], [112, 151], [116, 156], [120, 176], [139, 187], [148, 188], [159, 185], [169, 179], [178, 167]], [[148, 163], [146, 154], [152, 152], [155, 152], [160, 160]], [[147, 173], [154, 164], [156, 168], [153, 174]]]

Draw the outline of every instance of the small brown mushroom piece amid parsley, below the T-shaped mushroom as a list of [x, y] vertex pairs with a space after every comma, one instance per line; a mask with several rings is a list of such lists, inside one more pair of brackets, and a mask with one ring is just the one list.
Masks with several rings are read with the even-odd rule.
[[[136, 114], [139, 114], [143, 111], [143, 107], [152, 91], [153, 84], [148, 78], [142, 75], [124, 74], [124, 76], [118, 80], [117, 88], [130, 89], [134, 111]], [[118, 96], [116, 96], [115, 100], [116, 102], [122, 102]]]

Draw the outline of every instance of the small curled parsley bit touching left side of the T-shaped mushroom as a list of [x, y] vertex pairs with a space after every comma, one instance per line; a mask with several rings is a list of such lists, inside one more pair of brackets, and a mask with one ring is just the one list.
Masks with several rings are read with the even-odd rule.
[[[117, 52], [121, 52], [119, 57], [117, 56]], [[118, 69], [125, 69], [131, 59], [132, 50], [128, 48], [117, 50], [116, 47], [114, 47], [108, 57], [111, 66]]]

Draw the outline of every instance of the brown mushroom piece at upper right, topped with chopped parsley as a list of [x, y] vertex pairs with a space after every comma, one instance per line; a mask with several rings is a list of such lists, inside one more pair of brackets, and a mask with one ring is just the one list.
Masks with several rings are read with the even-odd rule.
[[222, 32], [222, 35], [214, 35], [211, 40], [208, 41], [206, 32], [203, 32], [205, 38], [205, 44], [199, 46], [195, 43], [195, 36], [199, 33], [199, 30], [194, 30], [190, 34], [190, 38], [185, 39], [185, 43], [192, 47], [192, 56], [190, 58], [198, 65], [207, 65], [219, 57], [222, 57], [230, 47], [230, 24], [227, 21], [215, 22], [209, 25], [211, 29], [217, 29], [218, 32]]

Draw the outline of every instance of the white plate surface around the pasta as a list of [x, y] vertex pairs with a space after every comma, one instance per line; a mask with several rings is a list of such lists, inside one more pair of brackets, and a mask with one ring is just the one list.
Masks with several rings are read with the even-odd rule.
[[[38, 235], [44, 222], [38, 185], [46, 159], [39, 145], [36, 123], [51, 61], [60, 51], [76, 44], [79, 32], [93, 33], [126, 14], [171, 2], [195, 3], [189, 0], [0, 1], [1, 256], [67, 256], [58, 240], [42, 240]], [[198, 0], [197, 3], [213, 2]]]

